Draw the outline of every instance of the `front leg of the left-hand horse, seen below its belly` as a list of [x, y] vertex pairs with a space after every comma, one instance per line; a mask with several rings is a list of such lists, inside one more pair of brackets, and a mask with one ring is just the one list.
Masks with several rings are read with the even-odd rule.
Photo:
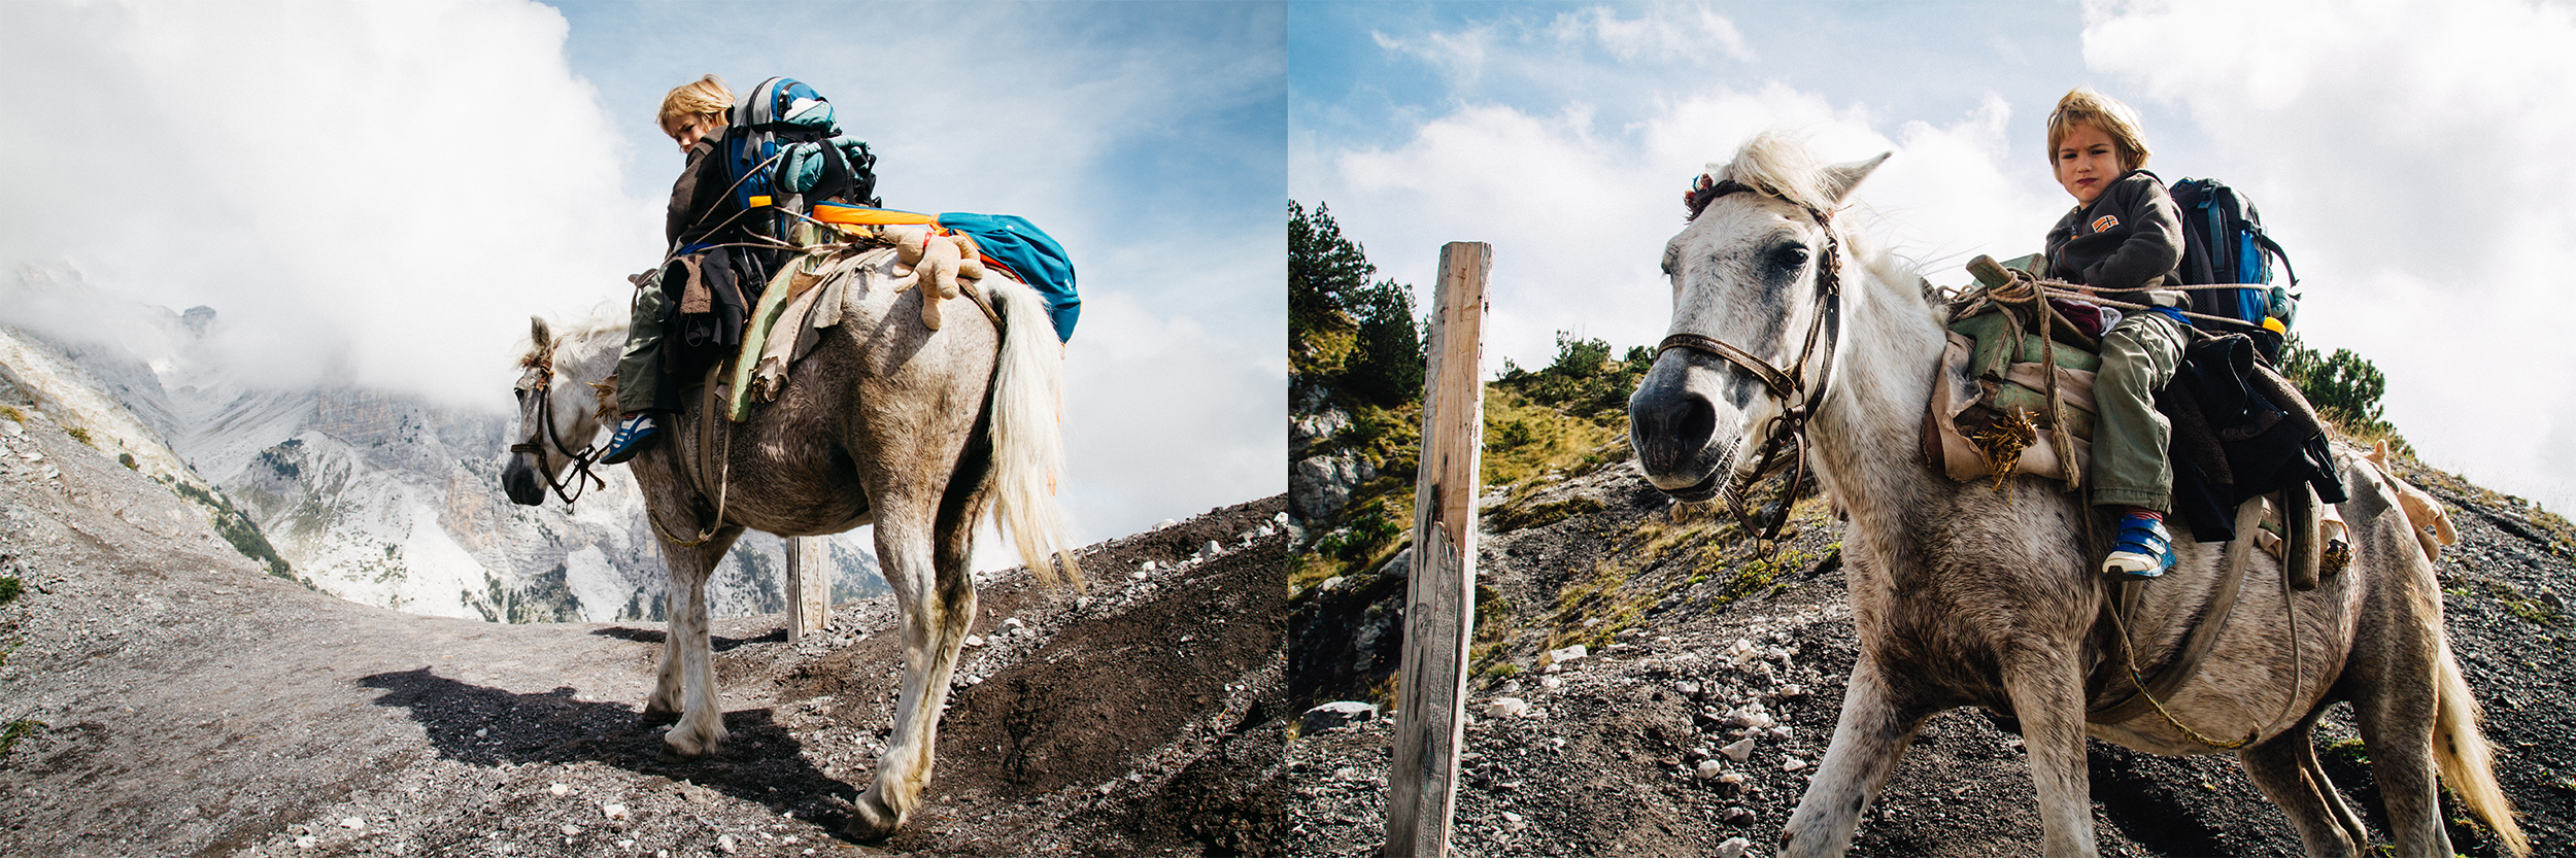
[[677, 721], [662, 734], [662, 763], [696, 760], [724, 745], [724, 703], [716, 698], [716, 665], [706, 642], [706, 580], [737, 536], [742, 526], [726, 526], [698, 546], [662, 544], [670, 624], [662, 631], [662, 670], [644, 703], [647, 721]]

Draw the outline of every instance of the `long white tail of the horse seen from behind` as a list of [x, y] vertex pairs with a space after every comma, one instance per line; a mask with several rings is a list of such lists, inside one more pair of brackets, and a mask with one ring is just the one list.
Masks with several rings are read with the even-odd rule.
[[1002, 276], [984, 278], [984, 296], [1002, 312], [1002, 363], [992, 379], [994, 520], [1020, 549], [1020, 562], [1041, 582], [1082, 587], [1082, 567], [1066, 546], [1056, 482], [1064, 477], [1061, 348], [1038, 291]]

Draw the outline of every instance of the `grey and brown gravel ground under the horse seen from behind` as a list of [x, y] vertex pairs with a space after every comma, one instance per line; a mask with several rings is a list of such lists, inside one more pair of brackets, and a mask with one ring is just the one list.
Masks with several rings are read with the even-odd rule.
[[[0, 855], [1285, 850], [1283, 497], [981, 585], [930, 801], [840, 840], [894, 706], [886, 600], [719, 621], [732, 742], [654, 763], [659, 629], [500, 626], [276, 580], [49, 423], [0, 423]], [[0, 585], [8, 590], [8, 585]]]

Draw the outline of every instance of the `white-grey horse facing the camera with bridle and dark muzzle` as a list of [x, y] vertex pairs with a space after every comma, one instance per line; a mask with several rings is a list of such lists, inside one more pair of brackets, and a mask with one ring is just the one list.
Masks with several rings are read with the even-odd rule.
[[[2432, 562], [2396, 492], [2349, 451], [2339, 459], [2352, 572], [2290, 593], [2280, 564], [2254, 551], [2236, 621], [2161, 701], [2172, 719], [2087, 724], [2087, 672], [2117, 652], [2097, 629], [2107, 590], [2084, 549], [2087, 510], [2040, 479], [1999, 492], [1922, 461], [1940, 312], [1911, 268], [1862, 250], [1834, 216], [1880, 160], [1824, 167], [1798, 142], [1765, 134], [1713, 165], [1692, 222], [1664, 247], [1672, 338], [1628, 405], [1638, 459], [1664, 492], [1741, 492], [1765, 466], [1757, 451], [1803, 430], [1821, 487], [1850, 513], [1844, 575], [1860, 657], [1824, 763], [1780, 835], [1783, 855], [1847, 850], [1914, 732], [1955, 706], [2020, 719], [2048, 855], [2094, 855], [2084, 737], [2161, 755], [2215, 750], [2177, 721], [2251, 734], [2239, 760], [2290, 814], [2308, 855], [2354, 855], [2367, 830], [2311, 742], [2336, 701], [2352, 703], [2370, 747], [2398, 855], [2452, 855], [2437, 768], [2509, 850], [2527, 853], [2442, 634]], [[2130, 621], [2141, 670], [2172, 657], [2218, 580], [2223, 544], [2179, 536], [2174, 551], [2182, 562], [2143, 585]]]

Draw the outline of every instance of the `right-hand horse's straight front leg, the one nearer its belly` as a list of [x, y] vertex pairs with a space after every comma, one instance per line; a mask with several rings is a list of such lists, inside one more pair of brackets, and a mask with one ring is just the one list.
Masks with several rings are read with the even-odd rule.
[[2040, 794], [2040, 855], [2094, 855], [2084, 675], [2074, 652], [2069, 642], [2004, 657], [2004, 693], [2022, 721], [2030, 783]]

